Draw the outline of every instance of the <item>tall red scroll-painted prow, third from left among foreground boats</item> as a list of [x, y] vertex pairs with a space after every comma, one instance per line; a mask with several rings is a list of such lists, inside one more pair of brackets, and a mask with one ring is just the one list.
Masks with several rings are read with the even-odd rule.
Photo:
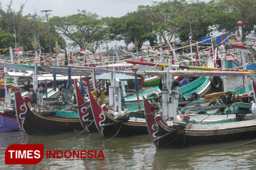
[[93, 112], [95, 125], [96, 125], [98, 131], [100, 132], [100, 134], [103, 135], [104, 128], [102, 126], [104, 125], [104, 123], [102, 123], [102, 122], [105, 121], [106, 116], [102, 112], [99, 104], [97, 103], [97, 101], [95, 100], [95, 98], [93, 97], [93, 95], [91, 94], [91, 92], [88, 88], [86, 88], [86, 92], [88, 93], [88, 96], [89, 96], [91, 111]]

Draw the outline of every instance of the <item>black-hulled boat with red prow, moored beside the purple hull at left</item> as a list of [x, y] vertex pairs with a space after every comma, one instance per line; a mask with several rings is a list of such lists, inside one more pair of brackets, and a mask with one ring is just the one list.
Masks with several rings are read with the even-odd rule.
[[77, 112], [38, 112], [29, 97], [23, 100], [20, 92], [14, 95], [16, 118], [21, 129], [29, 135], [83, 129]]

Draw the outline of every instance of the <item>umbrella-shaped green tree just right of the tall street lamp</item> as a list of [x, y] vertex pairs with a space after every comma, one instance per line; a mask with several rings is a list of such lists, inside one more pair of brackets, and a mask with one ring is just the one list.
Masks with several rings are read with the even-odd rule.
[[50, 23], [80, 48], [86, 48], [95, 53], [104, 42], [106, 29], [102, 19], [97, 14], [79, 11], [78, 14], [65, 17], [54, 16]]

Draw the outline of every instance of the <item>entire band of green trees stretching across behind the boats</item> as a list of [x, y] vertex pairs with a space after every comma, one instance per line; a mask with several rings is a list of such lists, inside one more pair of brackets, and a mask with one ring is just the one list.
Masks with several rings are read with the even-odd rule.
[[[12, 0], [7, 10], [2, 10], [0, 6], [1, 47], [13, 46], [14, 17], [18, 43], [31, 50], [33, 30], [36, 30], [41, 47], [48, 52], [45, 18], [35, 14], [23, 16], [24, 4], [20, 5], [17, 12], [13, 11], [11, 6]], [[73, 15], [49, 18], [51, 48], [55, 45], [55, 38], [58, 39], [59, 45], [62, 44], [60, 34], [63, 34], [69, 39], [67, 42], [71, 46], [79, 46], [92, 53], [109, 39], [123, 40], [128, 46], [134, 43], [136, 38], [140, 49], [145, 41], [149, 41], [151, 45], [157, 44], [157, 36], [167, 42], [173, 36], [188, 40], [193, 34], [193, 39], [199, 40], [214, 31], [234, 32], [239, 20], [243, 21], [243, 37], [250, 33], [256, 35], [255, 8], [255, 0], [169, 0], [140, 5], [136, 11], [121, 17], [101, 18], [95, 13], [79, 11]]]

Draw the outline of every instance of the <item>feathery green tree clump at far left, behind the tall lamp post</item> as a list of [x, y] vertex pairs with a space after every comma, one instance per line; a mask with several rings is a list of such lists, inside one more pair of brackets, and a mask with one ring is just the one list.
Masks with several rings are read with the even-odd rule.
[[[36, 14], [28, 14], [26, 16], [23, 16], [22, 13], [24, 5], [25, 4], [21, 4], [20, 9], [17, 12], [12, 10], [11, 8], [12, 1], [10, 1], [10, 3], [7, 5], [7, 9], [5, 11], [2, 9], [2, 6], [0, 5], [0, 28], [2, 29], [2, 31], [0, 31], [0, 36], [5, 37], [4, 45], [1, 46], [6, 47], [11, 45], [13, 48], [15, 47], [15, 39], [13, 36], [15, 21], [16, 39], [18, 46], [22, 46], [24, 50], [33, 50], [33, 47], [31, 46], [31, 41], [34, 34], [33, 30], [35, 30], [40, 40], [42, 51], [48, 53], [49, 45], [47, 23], [45, 22], [44, 18], [39, 17]], [[60, 34], [56, 31], [56, 29], [50, 26], [49, 32], [51, 48], [53, 49], [56, 38], [58, 39], [58, 43], [61, 46], [62, 39]]]

